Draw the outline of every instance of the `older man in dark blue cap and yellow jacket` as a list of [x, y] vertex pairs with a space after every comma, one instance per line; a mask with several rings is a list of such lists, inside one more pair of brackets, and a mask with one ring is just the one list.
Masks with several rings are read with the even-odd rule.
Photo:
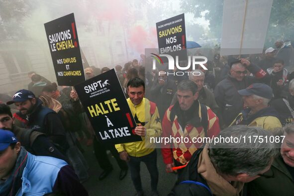
[[[265, 84], [255, 83], [246, 89], [239, 90], [246, 109], [235, 118], [231, 125], [256, 126], [265, 130], [282, 127], [279, 113], [268, 103], [273, 98], [271, 87]], [[230, 126], [231, 126], [230, 125]]]

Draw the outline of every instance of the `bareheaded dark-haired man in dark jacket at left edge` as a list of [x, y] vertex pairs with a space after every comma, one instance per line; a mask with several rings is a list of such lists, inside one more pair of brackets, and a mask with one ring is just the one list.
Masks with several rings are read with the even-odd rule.
[[33, 155], [55, 157], [67, 161], [67, 158], [55, 148], [44, 133], [14, 125], [10, 107], [3, 103], [0, 104], [0, 129], [13, 132], [21, 145]]

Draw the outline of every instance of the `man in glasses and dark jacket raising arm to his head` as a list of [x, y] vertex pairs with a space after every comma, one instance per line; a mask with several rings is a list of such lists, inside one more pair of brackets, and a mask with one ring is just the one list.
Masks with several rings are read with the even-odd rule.
[[[268, 80], [268, 74], [247, 59], [231, 61], [230, 65], [230, 74], [214, 89], [214, 98], [224, 122], [222, 126], [228, 126], [243, 108], [242, 97], [238, 94], [238, 90], [245, 89], [253, 83]], [[248, 76], [246, 69], [255, 77]]]

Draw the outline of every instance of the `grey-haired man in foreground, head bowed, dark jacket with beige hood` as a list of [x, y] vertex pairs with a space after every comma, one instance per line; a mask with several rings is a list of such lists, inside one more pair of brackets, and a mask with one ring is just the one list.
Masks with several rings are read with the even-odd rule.
[[271, 142], [236, 142], [235, 138], [270, 136], [258, 127], [238, 125], [222, 130], [195, 152], [170, 195], [239, 196], [244, 183], [267, 175], [279, 151]]

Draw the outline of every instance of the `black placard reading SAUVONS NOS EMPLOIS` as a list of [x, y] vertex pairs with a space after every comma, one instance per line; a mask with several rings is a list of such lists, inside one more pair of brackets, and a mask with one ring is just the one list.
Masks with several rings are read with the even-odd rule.
[[[187, 60], [185, 15], [180, 14], [156, 23], [159, 54]], [[166, 59], [166, 58], [163, 58]]]

